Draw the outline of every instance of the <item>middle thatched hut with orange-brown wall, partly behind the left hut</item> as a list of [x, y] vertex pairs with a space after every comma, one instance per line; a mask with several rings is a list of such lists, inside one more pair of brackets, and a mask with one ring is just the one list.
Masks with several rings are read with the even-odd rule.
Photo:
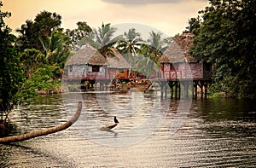
[[112, 49], [114, 56], [108, 56], [108, 75], [109, 78], [129, 78], [131, 65], [119, 53], [118, 49]]

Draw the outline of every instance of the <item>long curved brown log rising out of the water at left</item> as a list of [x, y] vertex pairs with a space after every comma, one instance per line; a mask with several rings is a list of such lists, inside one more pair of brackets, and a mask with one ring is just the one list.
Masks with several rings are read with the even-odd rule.
[[55, 133], [55, 132], [58, 132], [61, 130], [66, 130], [68, 127], [73, 125], [79, 119], [81, 110], [82, 110], [82, 101], [79, 101], [76, 113], [74, 113], [73, 117], [71, 119], [67, 120], [66, 123], [64, 123], [62, 125], [55, 126], [55, 127], [51, 127], [48, 129], [34, 130], [34, 131], [26, 133], [26, 134], [3, 137], [3, 138], [0, 138], [0, 143], [21, 142], [21, 141], [28, 140], [28, 139], [31, 139], [34, 137], [46, 136], [48, 134], [52, 134], [52, 133]]

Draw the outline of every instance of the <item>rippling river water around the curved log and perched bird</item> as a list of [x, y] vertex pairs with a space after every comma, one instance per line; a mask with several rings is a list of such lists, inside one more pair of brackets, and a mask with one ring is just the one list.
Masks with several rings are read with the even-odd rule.
[[[12, 122], [20, 133], [60, 125], [81, 99], [79, 121], [49, 136], [0, 145], [1, 167], [256, 165], [254, 101], [171, 101], [140, 92], [63, 97], [64, 104], [61, 95], [42, 96], [30, 110], [15, 110]], [[113, 123], [113, 115], [120, 124], [113, 131], [98, 130]]]

